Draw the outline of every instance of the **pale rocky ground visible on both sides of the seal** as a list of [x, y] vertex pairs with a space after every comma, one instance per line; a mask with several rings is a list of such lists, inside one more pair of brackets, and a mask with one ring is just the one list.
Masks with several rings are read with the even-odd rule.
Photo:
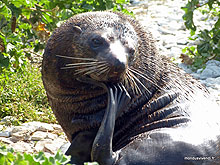
[[[137, 19], [140, 20], [152, 33], [157, 41], [161, 54], [177, 59], [177, 63], [186, 72], [192, 74], [205, 84], [216, 101], [220, 102], [220, 62], [209, 61], [205, 70], [192, 72], [186, 65], [181, 64], [179, 56], [182, 48], [194, 45], [190, 42], [189, 31], [186, 30], [180, 7], [186, 4], [181, 0], [143, 0], [133, 1], [129, 6]], [[195, 15], [196, 23], [200, 26], [210, 26], [211, 22], [201, 24], [202, 16]], [[16, 151], [34, 153], [44, 151], [47, 155], [55, 154], [57, 149], [67, 142], [62, 129], [57, 124], [40, 122], [25, 123], [21, 126], [8, 127], [10, 117], [1, 121], [0, 141], [14, 148]]]

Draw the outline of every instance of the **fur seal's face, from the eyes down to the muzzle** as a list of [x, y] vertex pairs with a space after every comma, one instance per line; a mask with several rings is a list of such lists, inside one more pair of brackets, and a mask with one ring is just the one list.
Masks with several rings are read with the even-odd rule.
[[129, 58], [134, 56], [134, 47], [123, 41], [114, 28], [99, 30], [87, 36], [91, 57], [97, 60], [90, 76], [97, 81], [120, 81], [124, 77]]

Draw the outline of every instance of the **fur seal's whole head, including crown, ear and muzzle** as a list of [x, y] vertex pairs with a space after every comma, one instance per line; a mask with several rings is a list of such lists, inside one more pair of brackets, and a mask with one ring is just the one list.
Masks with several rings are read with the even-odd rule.
[[[47, 47], [56, 54], [62, 80], [89, 77], [120, 82], [134, 59], [137, 35], [128, 20], [115, 13], [85, 13], [72, 17], [51, 37]], [[51, 43], [51, 44], [50, 44]], [[62, 50], [62, 51], [61, 51]]]

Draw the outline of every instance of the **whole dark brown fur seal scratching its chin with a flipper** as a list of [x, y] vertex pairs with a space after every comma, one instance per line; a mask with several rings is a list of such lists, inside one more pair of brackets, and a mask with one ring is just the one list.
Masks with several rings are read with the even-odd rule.
[[42, 79], [71, 163], [220, 162], [220, 108], [129, 16], [67, 20], [47, 43]]

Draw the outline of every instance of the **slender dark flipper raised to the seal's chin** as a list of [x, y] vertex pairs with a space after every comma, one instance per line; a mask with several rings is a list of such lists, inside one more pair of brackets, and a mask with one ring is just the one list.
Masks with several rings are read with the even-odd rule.
[[130, 99], [121, 84], [107, 85], [106, 88], [108, 105], [91, 152], [92, 161], [97, 161], [100, 165], [112, 165], [118, 160], [118, 153], [112, 151], [115, 120]]

